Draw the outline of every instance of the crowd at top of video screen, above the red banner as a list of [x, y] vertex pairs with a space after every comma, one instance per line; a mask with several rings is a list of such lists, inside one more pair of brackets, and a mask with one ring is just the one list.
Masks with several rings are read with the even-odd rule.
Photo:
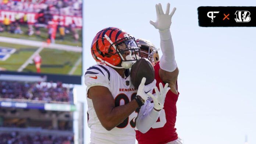
[[82, 17], [82, 0], [0, 0], [0, 10], [40, 12]]

